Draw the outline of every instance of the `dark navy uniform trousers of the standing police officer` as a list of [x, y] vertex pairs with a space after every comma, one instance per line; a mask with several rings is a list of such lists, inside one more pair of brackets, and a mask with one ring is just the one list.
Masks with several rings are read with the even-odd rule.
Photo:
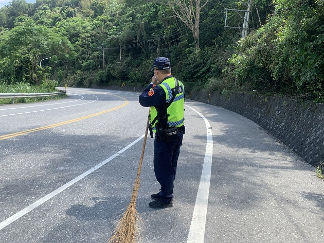
[[173, 142], [158, 140], [155, 135], [154, 172], [156, 180], [161, 185], [159, 195], [165, 202], [169, 202], [173, 198], [173, 181], [175, 179], [182, 139], [182, 131], [179, 131], [177, 140]]

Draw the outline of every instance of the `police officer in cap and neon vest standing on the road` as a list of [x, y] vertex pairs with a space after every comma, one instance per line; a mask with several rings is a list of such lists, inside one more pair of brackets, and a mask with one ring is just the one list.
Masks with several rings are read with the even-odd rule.
[[143, 107], [150, 107], [151, 130], [154, 140], [154, 173], [160, 183], [160, 192], [152, 194], [154, 209], [172, 207], [173, 181], [182, 145], [184, 126], [184, 85], [171, 74], [170, 60], [156, 58], [154, 76], [149, 86], [139, 96]]

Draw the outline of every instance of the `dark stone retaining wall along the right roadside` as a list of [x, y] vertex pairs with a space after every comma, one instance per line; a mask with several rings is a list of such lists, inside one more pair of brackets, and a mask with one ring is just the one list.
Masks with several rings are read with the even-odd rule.
[[217, 92], [209, 96], [197, 91], [191, 95], [193, 100], [253, 120], [307, 163], [317, 166], [324, 162], [324, 103], [255, 94], [236, 93], [225, 97]]

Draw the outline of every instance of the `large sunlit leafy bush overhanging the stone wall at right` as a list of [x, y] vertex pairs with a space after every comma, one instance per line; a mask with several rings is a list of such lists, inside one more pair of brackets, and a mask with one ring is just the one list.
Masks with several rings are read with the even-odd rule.
[[274, 15], [239, 41], [224, 68], [228, 88], [324, 97], [324, 0], [276, 0]]

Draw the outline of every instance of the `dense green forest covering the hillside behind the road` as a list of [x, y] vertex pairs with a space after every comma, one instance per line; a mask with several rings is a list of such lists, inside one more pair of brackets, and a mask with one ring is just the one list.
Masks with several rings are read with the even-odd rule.
[[187, 90], [324, 100], [324, 0], [13, 0], [0, 9], [0, 86], [143, 85], [170, 58]]

